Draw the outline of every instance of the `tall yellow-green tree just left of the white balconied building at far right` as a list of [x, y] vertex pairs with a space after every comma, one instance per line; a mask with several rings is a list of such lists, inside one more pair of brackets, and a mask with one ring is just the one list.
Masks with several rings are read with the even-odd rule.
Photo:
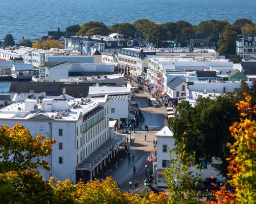
[[237, 34], [236, 31], [230, 29], [226, 29], [222, 33], [218, 49], [220, 54], [236, 54]]

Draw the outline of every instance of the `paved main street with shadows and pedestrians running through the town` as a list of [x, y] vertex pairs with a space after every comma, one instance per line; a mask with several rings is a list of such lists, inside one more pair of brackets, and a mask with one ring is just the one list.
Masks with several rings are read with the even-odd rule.
[[[130, 164], [128, 164], [128, 158], [124, 159], [110, 174], [121, 186], [122, 191], [129, 190], [129, 181], [132, 182], [132, 189], [134, 189], [133, 181], [135, 179], [139, 181], [139, 186], [141, 186], [141, 182], [145, 180], [146, 175], [145, 165], [148, 166], [147, 174], [152, 170], [152, 162], [149, 163], [146, 159], [150, 153], [155, 156], [153, 147], [153, 140], [157, 139], [155, 134], [167, 124], [165, 115], [166, 108], [153, 108], [150, 106], [148, 99], [151, 98], [151, 96], [148, 93], [137, 93], [135, 94], [135, 98], [144, 117], [142, 127], [144, 127], [145, 124], [148, 125], [149, 131], [138, 131], [135, 134], [134, 144], [130, 147], [130, 153], [134, 154], [134, 161], [131, 161]], [[146, 142], [144, 141], [145, 135], [147, 135]], [[136, 166], [135, 174], [133, 174], [133, 165]]]

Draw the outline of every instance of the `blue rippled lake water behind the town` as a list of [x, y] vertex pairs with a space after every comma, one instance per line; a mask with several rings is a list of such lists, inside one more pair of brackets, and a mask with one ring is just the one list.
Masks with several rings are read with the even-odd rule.
[[0, 0], [0, 5], [0, 39], [11, 33], [16, 41], [90, 20], [106, 25], [142, 18], [198, 24], [244, 17], [256, 22], [255, 0]]

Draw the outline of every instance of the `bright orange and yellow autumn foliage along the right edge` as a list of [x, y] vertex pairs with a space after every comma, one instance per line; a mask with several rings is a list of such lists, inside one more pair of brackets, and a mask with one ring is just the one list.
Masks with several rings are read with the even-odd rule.
[[235, 188], [235, 194], [221, 189], [216, 193], [218, 204], [256, 204], [256, 105], [252, 107], [251, 96], [244, 93], [244, 97], [245, 101], [236, 104], [241, 111], [240, 122], [229, 128], [235, 142], [227, 144], [228, 182]]

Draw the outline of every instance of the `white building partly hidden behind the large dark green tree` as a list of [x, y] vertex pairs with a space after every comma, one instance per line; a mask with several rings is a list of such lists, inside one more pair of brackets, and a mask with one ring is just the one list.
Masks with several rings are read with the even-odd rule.
[[[175, 147], [175, 139], [173, 137], [172, 131], [167, 127], [163, 127], [157, 134], [158, 138], [158, 149], [157, 149], [157, 162], [153, 163], [154, 165], [154, 173], [157, 179], [158, 187], [167, 187], [164, 177], [164, 171], [166, 167], [169, 166], [170, 160], [170, 149]], [[176, 155], [173, 154], [173, 158]], [[214, 169], [214, 165], [220, 164], [220, 161], [214, 159], [212, 164], [207, 164], [207, 167], [203, 169], [202, 178], [209, 178], [211, 174], [213, 177], [217, 178], [218, 181], [222, 181], [224, 177], [218, 175], [218, 172]], [[194, 172], [200, 173], [199, 169], [194, 169]]]

